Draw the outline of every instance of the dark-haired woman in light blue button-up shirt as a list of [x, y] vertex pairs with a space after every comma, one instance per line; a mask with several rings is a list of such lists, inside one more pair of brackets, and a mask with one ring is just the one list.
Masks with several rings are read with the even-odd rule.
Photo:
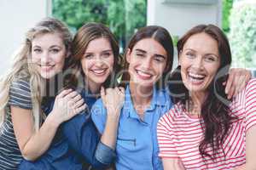
[[[160, 26], [147, 26], [131, 37], [125, 53], [125, 104], [116, 109], [104, 106], [99, 99], [91, 109], [92, 119], [100, 133], [106, 116], [121, 111], [117, 137], [117, 169], [160, 169], [156, 124], [172, 104], [163, 87], [172, 69], [173, 46], [168, 31]], [[106, 107], [106, 109], [105, 109]]]

